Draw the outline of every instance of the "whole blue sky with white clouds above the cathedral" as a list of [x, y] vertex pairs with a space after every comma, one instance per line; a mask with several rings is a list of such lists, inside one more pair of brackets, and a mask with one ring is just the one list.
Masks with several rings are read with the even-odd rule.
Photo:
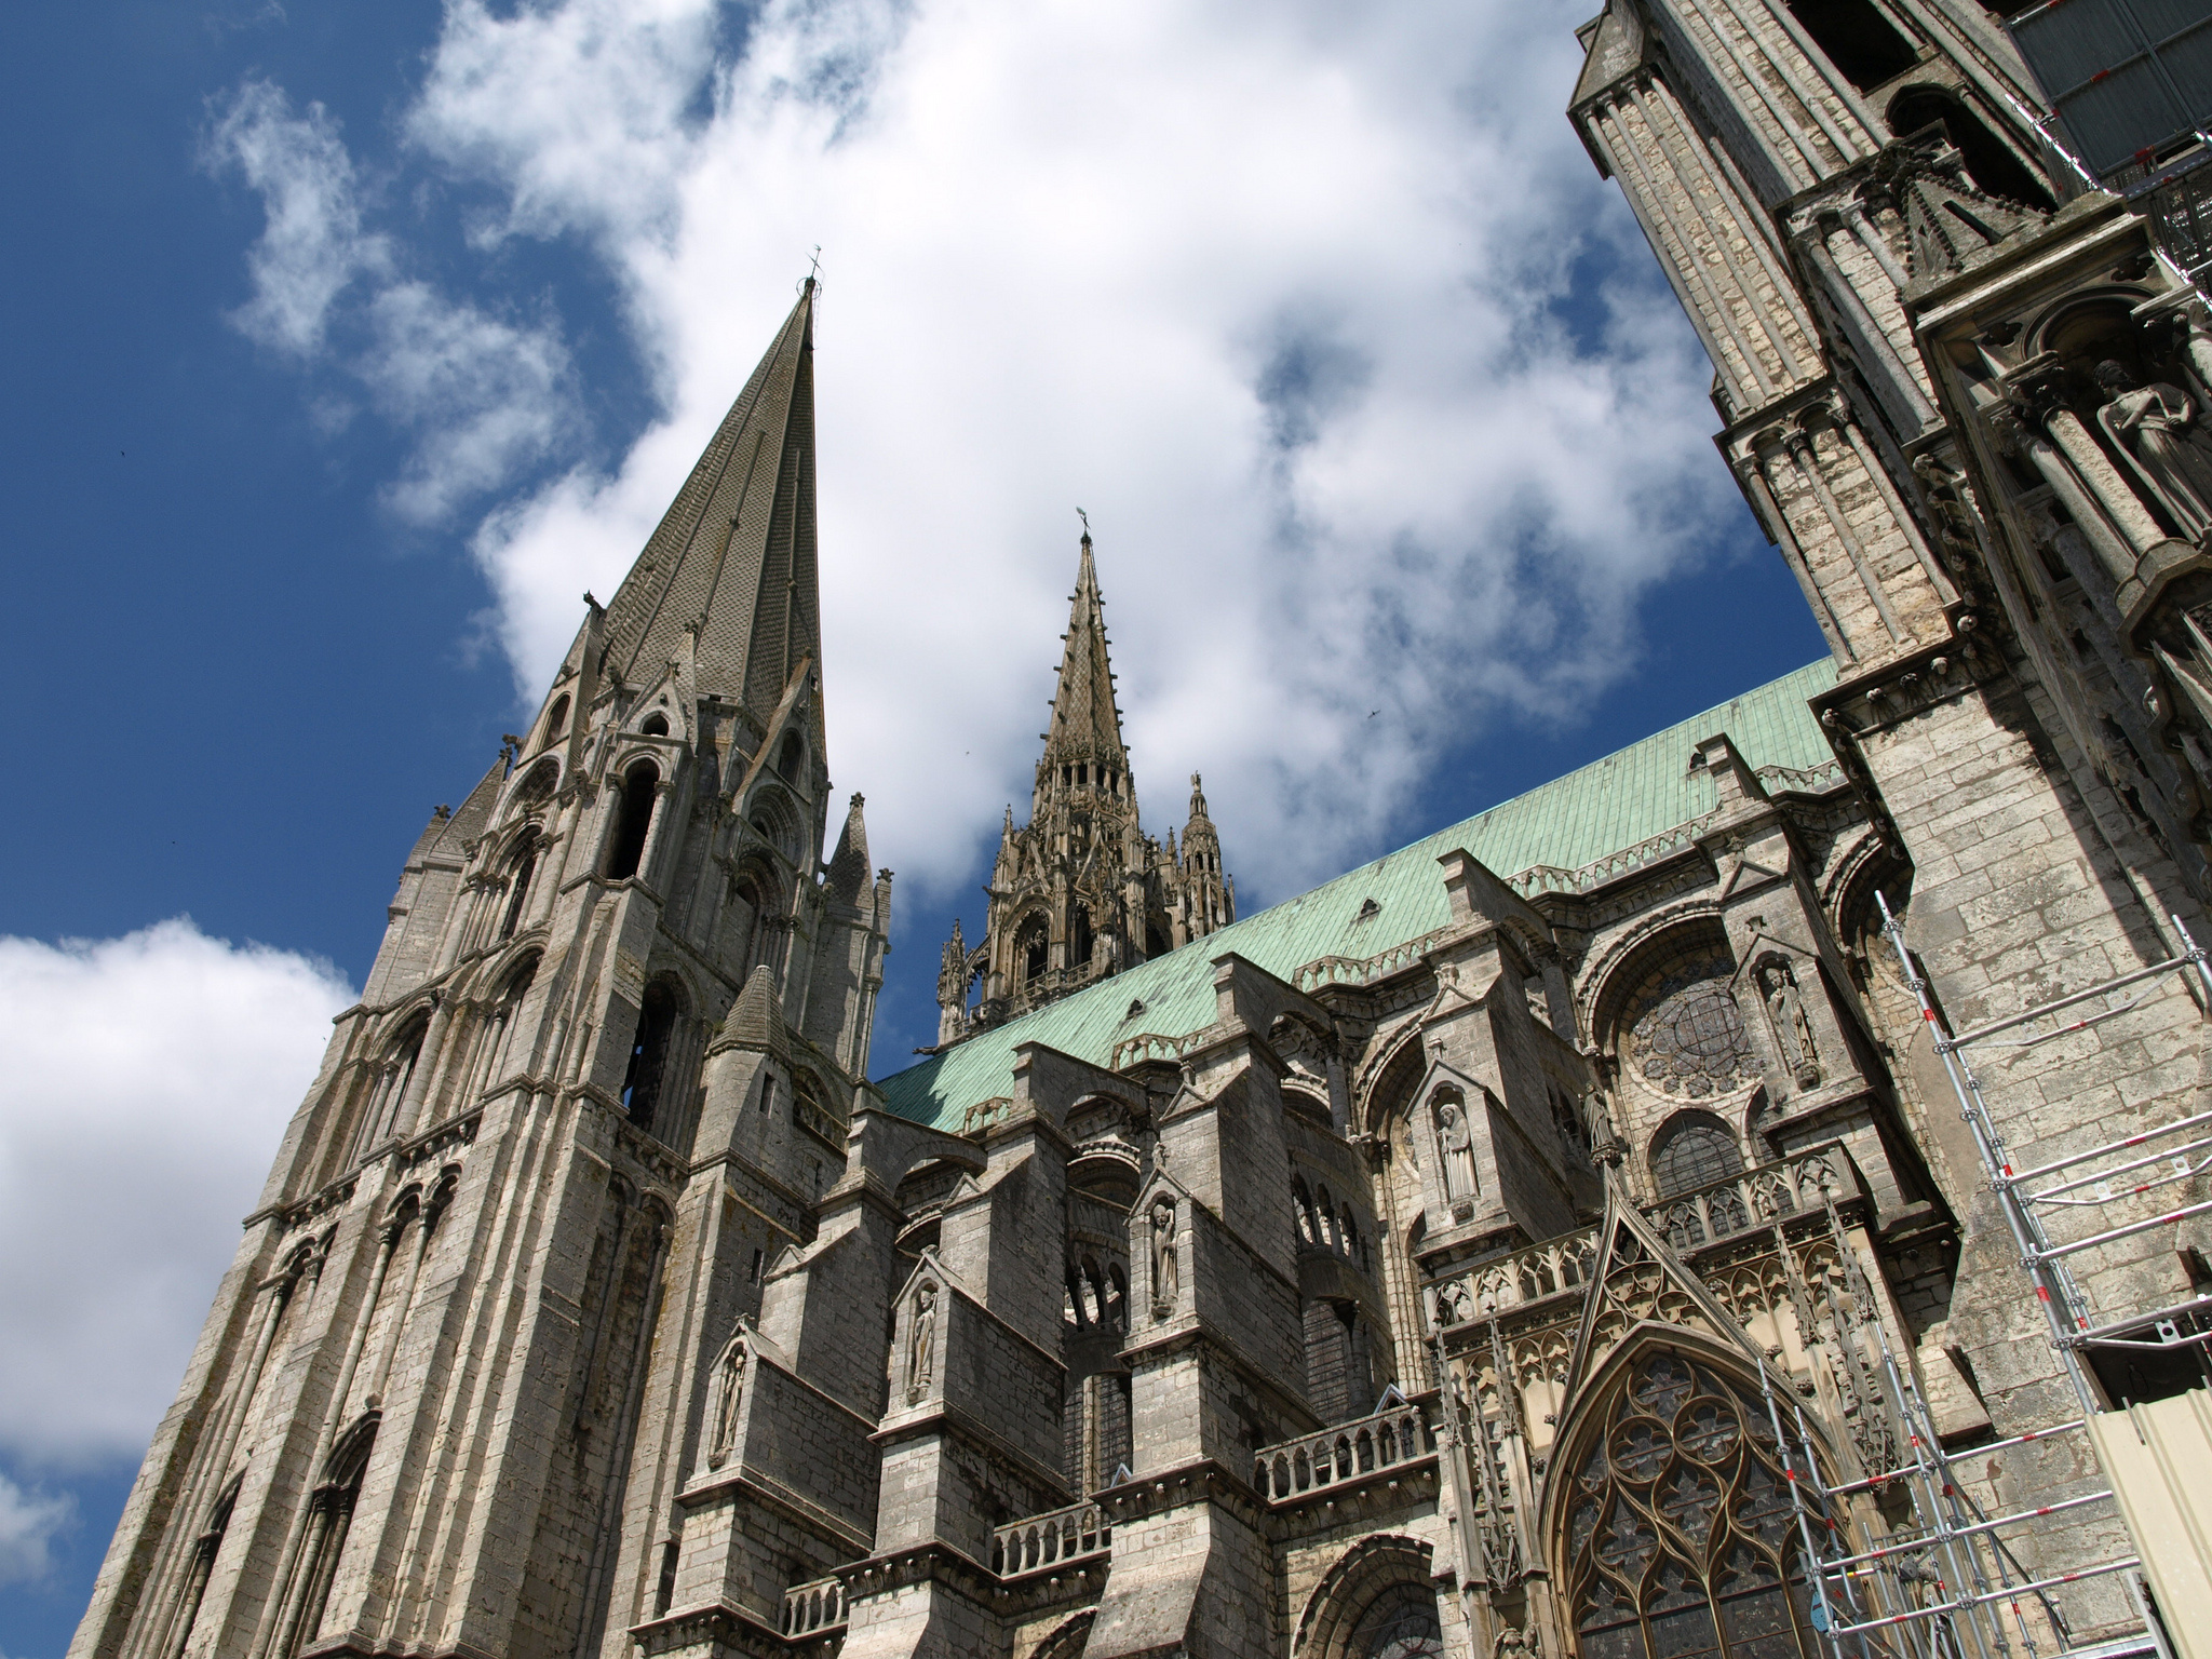
[[1579, 7], [1340, 13], [7, 11], [0, 1657], [66, 1646], [400, 856], [816, 246], [878, 1071], [1077, 502], [1146, 823], [1203, 770], [1248, 909], [1820, 653], [1559, 115]]

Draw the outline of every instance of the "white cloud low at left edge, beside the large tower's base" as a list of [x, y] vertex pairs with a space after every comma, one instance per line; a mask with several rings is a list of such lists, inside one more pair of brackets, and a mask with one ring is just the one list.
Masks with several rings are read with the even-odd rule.
[[[66, 1467], [144, 1449], [349, 1002], [327, 962], [184, 918], [0, 938], [0, 1451]], [[0, 1577], [44, 1537], [11, 1491]]]

